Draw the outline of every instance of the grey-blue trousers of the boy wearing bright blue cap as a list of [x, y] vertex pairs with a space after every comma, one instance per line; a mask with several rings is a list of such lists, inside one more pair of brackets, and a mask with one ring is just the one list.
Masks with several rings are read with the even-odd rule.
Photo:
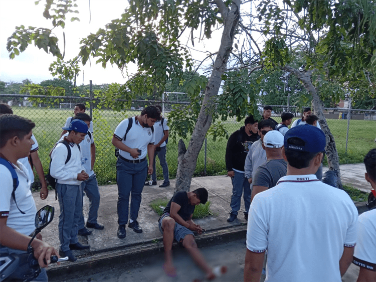
[[59, 239], [61, 250], [69, 250], [69, 244], [78, 242], [78, 221], [82, 214], [82, 195], [80, 185], [56, 184], [58, 194]]

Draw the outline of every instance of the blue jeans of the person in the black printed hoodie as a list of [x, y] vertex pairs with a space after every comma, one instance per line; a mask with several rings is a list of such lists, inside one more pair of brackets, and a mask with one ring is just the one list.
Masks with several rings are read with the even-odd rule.
[[[233, 195], [231, 196], [231, 212], [232, 214], [238, 215], [240, 210], [240, 200], [244, 198], [245, 213], [248, 214], [249, 206], [251, 204], [251, 186], [248, 179], [244, 176], [244, 173], [234, 171], [235, 176], [231, 180], [233, 184]], [[244, 191], [244, 193], [243, 193]]]

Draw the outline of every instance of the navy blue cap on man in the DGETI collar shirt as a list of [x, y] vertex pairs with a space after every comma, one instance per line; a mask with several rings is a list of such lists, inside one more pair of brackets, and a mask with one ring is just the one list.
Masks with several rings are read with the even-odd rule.
[[[292, 145], [287, 142], [289, 138], [296, 137], [303, 140], [304, 145]], [[319, 153], [325, 151], [325, 133], [320, 128], [316, 126], [304, 124], [292, 127], [289, 129], [284, 137], [285, 149], [300, 151], [300, 152], [310, 152]]]

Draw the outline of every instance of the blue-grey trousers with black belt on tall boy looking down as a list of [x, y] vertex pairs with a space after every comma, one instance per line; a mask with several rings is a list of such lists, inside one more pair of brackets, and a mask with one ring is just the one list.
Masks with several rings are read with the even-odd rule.
[[[119, 198], [117, 200], [117, 223], [125, 225], [128, 223], [129, 196], [130, 214], [129, 218], [137, 220], [138, 210], [141, 204], [141, 193], [147, 177], [147, 161], [133, 164], [120, 158], [116, 162], [116, 182]], [[132, 193], [132, 194], [131, 194]]]

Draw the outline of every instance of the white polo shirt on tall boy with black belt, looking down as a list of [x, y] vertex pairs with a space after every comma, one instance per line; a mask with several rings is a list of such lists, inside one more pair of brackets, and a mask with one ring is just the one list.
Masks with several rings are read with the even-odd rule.
[[131, 149], [137, 148], [141, 150], [141, 155], [138, 156], [137, 159], [133, 159], [128, 152], [119, 150], [119, 154], [121, 157], [127, 160], [133, 161], [133, 160], [141, 160], [146, 157], [147, 145], [154, 144], [155, 130], [153, 133], [150, 127], [142, 127], [142, 125], [139, 124], [136, 117], [132, 117], [132, 119], [133, 119], [132, 127], [129, 129], [127, 136], [125, 137], [125, 140], [123, 140], [123, 137], [125, 135], [125, 131], [128, 128], [128, 123], [129, 123], [128, 118], [122, 120], [117, 125], [115, 132], [114, 132], [114, 137], [121, 140], [123, 144], [125, 144]]

